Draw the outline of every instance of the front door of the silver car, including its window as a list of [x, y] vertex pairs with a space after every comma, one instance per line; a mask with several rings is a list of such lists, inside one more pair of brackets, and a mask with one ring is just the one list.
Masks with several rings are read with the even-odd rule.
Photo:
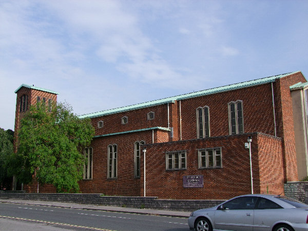
[[244, 196], [227, 201], [215, 211], [215, 229], [252, 231], [257, 197]]

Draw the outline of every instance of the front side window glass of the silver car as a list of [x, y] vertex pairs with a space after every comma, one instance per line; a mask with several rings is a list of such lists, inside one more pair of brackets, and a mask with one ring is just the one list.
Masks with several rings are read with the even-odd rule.
[[257, 197], [238, 197], [223, 204], [223, 209], [254, 209]]

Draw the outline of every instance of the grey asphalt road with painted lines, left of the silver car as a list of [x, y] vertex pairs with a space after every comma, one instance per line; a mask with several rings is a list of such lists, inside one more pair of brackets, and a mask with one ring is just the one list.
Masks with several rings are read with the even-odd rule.
[[[1, 230], [189, 230], [187, 218], [12, 203], [0, 203], [0, 217]], [[16, 229], [5, 228], [6, 224]]]

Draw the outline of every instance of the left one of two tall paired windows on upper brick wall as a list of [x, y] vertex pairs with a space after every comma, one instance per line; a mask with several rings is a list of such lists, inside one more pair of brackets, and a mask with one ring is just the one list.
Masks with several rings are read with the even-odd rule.
[[197, 108], [197, 137], [206, 138], [210, 136], [209, 132], [209, 107]]

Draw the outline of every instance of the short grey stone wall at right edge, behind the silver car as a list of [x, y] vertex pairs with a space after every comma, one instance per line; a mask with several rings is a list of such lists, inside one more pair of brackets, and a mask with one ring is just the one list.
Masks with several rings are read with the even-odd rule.
[[308, 204], [308, 181], [294, 181], [284, 184], [284, 195]]

